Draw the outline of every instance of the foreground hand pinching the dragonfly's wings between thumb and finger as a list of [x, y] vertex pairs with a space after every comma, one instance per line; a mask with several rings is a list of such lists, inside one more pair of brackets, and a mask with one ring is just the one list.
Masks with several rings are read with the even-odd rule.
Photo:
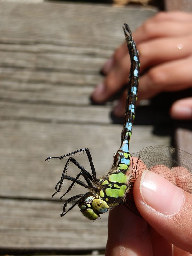
[[133, 194], [144, 219], [124, 205], [111, 210], [106, 256], [191, 255], [192, 195], [151, 171], [136, 179]]

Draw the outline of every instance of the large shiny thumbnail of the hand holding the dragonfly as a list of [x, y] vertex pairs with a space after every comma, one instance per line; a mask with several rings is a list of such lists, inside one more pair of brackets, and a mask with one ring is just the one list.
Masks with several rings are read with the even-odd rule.
[[162, 176], [147, 170], [141, 177], [140, 193], [146, 204], [165, 215], [178, 212], [184, 203], [180, 188]]

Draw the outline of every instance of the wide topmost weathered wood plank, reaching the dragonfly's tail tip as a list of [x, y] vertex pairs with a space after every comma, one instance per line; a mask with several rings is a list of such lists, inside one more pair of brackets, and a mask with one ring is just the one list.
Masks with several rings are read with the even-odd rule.
[[12, 42], [68, 42], [84, 47], [101, 45], [110, 48], [112, 44], [114, 48], [114, 44], [118, 46], [122, 41], [119, 29], [122, 23], [127, 22], [135, 29], [155, 12], [155, 8], [149, 7], [39, 3], [37, 8], [35, 3], [1, 2], [1, 17], [5, 22], [1, 22], [0, 29], [4, 35], [2, 42], [6, 43], [9, 38]]

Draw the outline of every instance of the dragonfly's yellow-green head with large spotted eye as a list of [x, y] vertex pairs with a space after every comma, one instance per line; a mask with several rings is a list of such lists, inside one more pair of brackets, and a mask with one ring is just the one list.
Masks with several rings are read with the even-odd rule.
[[98, 194], [87, 192], [79, 201], [80, 211], [90, 220], [96, 220], [100, 214], [107, 212], [108, 204]]

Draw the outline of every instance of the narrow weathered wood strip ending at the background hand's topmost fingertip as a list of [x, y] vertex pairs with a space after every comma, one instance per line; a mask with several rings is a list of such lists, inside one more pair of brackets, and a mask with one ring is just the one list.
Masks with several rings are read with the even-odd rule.
[[[63, 54], [59, 53], [36, 53], [34, 52], [1, 52], [2, 66], [47, 70], [47, 71], [70, 71], [73, 73], [98, 73], [98, 66], [105, 61], [101, 57], [94, 58], [86, 54]], [[94, 61], [93, 61], [94, 60]], [[92, 65], [90, 63], [92, 62]]]

